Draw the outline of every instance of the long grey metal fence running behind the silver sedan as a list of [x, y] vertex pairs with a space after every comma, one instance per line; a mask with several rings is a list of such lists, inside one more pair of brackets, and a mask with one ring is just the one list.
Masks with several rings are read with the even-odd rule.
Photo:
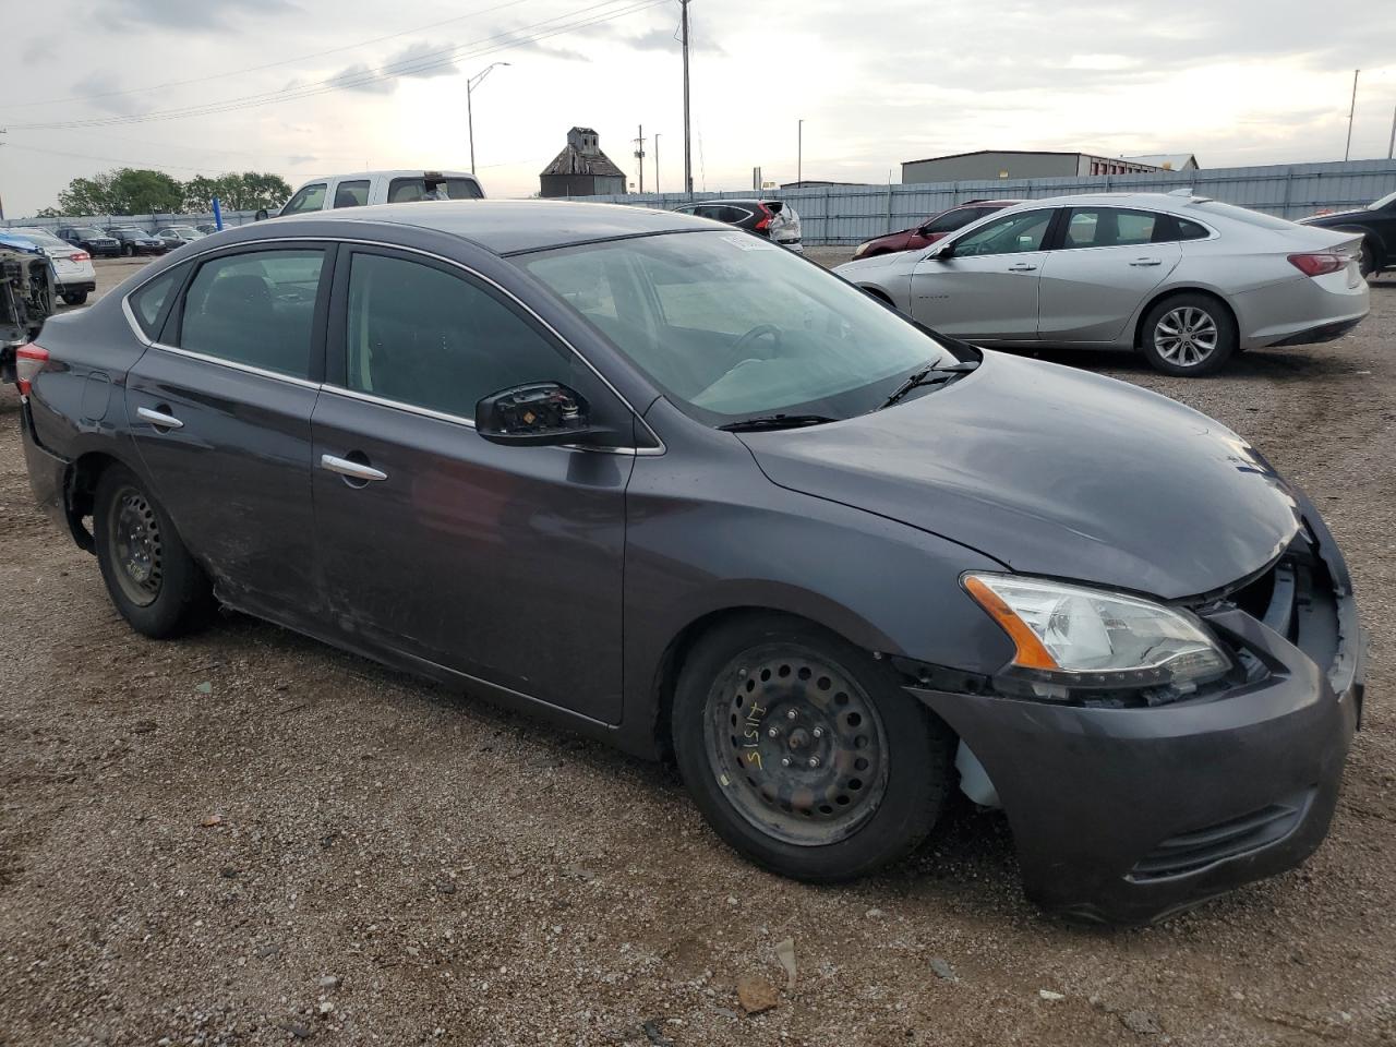
[[1171, 193], [1191, 186], [1199, 195], [1240, 204], [1280, 218], [1321, 209], [1362, 207], [1396, 190], [1396, 162], [1287, 163], [1270, 168], [1149, 174], [1094, 174], [1069, 179], [988, 179], [912, 186], [815, 186], [744, 193], [663, 193], [585, 200], [673, 209], [692, 200], [761, 195], [786, 200], [800, 215], [804, 242], [856, 244], [916, 225], [923, 218], [969, 200], [1037, 200], [1069, 193]]

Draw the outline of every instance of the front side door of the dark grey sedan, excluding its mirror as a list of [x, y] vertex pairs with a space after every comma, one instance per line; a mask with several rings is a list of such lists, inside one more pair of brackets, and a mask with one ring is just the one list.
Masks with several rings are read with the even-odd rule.
[[625, 431], [628, 408], [461, 267], [345, 246], [338, 272], [313, 491], [343, 638], [618, 720], [634, 455], [501, 447], [473, 417], [533, 381], [570, 385]]

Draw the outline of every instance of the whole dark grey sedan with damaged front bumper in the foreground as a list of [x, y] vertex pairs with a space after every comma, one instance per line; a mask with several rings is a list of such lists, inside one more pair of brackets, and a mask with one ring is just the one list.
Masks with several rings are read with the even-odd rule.
[[133, 628], [221, 600], [673, 752], [780, 874], [907, 854], [956, 783], [1033, 898], [1101, 920], [1328, 831], [1364, 638], [1304, 494], [1188, 408], [758, 237], [560, 201], [285, 218], [20, 353], [34, 490]]

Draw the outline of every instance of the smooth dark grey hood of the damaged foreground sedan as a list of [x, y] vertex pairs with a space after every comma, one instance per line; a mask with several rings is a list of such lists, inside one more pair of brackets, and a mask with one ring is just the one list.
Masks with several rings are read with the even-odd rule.
[[1300, 526], [1287, 484], [1217, 422], [1121, 381], [994, 352], [886, 410], [741, 440], [782, 487], [1013, 571], [1163, 599], [1259, 571]]

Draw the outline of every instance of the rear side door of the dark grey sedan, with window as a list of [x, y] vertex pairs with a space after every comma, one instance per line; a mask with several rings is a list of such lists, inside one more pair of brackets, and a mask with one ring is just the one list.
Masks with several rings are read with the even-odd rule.
[[226, 602], [313, 613], [310, 415], [324, 367], [325, 247], [248, 244], [156, 279], [176, 276], [161, 341], [127, 381], [135, 448]]

